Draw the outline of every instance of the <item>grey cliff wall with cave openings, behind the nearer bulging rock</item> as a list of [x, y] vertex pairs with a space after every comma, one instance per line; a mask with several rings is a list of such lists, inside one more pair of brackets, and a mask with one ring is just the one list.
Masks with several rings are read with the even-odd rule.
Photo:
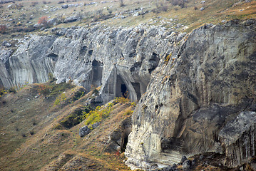
[[71, 79], [86, 90], [101, 86], [105, 103], [125, 93], [136, 101], [160, 58], [170, 53], [170, 41], [178, 37], [158, 27], [72, 27], [55, 28], [53, 33], [57, 36], [32, 36], [1, 61], [2, 86], [46, 82], [53, 73], [57, 83]]

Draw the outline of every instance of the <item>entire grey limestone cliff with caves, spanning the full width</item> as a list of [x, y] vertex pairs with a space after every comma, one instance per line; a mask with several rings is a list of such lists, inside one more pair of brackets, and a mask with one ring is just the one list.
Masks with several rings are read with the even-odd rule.
[[255, 154], [254, 146], [241, 147], [240, 158], [233, 150], [255, 144], [253, 122], [232, 140], [227, 136], [232, 125], [244, 123], [235, 121], [242, 111], [255, 115], [255, 28], [255, 20], [190, 34], [157, 26], [53, 28], [51, 36], [31, 36], [16, 51], [0, 49], [0, 86], [41, 83], [53, 73], [57, 83], [101, 86], [104, 103], [122, 95], [139, 100], [126, 148], [133, 169], [210, 151], [225, 152], [225, 164], [234, 167]]

